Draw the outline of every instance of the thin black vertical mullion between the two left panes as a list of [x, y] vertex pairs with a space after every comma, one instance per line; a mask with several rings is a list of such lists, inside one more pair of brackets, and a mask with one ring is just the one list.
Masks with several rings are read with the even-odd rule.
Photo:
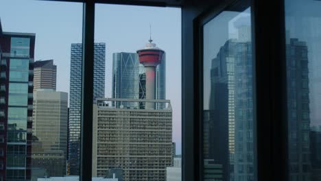
[[87, 1], [83, 8], [82, 27], [80, 181], [91, 180], [92, 176], [94, 28], [95, 3]]

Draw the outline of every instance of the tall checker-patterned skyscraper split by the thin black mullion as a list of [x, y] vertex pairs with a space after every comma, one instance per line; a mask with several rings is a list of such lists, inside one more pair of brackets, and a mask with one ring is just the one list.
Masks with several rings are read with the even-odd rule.
[[[105, 43], [95, 43], [94, 101], [105, 97]], [[71, 44], [70, 98], [69, 98], [69, 164], [70, 174], [79, 175], [80, 164], [80, 104], [82, 91], [82, 43]]]

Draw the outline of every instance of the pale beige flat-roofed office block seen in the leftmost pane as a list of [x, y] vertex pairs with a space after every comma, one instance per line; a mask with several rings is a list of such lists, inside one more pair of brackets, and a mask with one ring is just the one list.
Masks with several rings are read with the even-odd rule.
[[[33, 146], [32, 162], [33, 167], [47, 168], [48, 176], [66, 175], [67, 106], [68, 93], [53, 89], [34, 92], [32, 132], [41, 147]], [[32, 143], [35, 144], [35, 141]]]

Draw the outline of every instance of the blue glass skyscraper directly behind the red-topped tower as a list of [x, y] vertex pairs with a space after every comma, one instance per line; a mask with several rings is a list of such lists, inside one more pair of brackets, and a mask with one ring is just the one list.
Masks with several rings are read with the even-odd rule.
[[[145, 67], [137, 53], [112, 54], [112, 98], [145, 99], [145, 84]], [[165, 55], [156, 68], [155, 99], [165, 99]]]

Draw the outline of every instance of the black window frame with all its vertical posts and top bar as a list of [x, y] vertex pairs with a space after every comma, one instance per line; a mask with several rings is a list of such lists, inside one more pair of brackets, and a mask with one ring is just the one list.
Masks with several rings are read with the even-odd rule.
[[[182, 180], [202, 180], [202, 23], [241, 0], [45, 0], [84, 3], [81, 145], [91, 147], [95, 3], [178, 7], [182, 11]], [[287, 179], [284, 0], [252, 0], [257, 180]], [[86, 66], [85, 66], [86, 65]], [[86, 112], [84, 111], [86, 105]], [[81, 146], [80, 180], [91, 180], [92, 149]]]

